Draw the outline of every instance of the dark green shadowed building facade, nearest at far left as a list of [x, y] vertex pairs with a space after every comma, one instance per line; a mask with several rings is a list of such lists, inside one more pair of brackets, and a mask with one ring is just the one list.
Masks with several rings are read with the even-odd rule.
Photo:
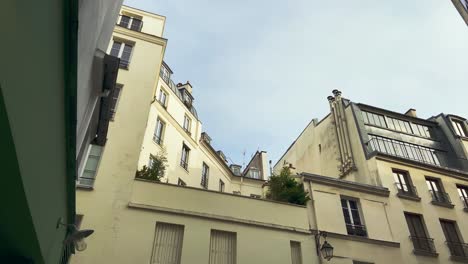
[[11, 201], [0, 214], [0, 263], [66, 263], [74, 250], [64, 241], [75, 222], [78, 153], [84, 135], [96, 134], [93, 113], [112, 80], [112, 58], [97, 51], [121, 3], [0, 3], [1, 197]]

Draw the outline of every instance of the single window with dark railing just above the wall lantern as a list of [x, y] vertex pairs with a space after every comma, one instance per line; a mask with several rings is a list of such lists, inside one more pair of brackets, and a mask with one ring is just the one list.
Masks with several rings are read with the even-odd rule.
[[366, 227], [359, 213], [358, 202], [354, 199], [341, 198], [341, 208], [348, 235], [367, 236]]

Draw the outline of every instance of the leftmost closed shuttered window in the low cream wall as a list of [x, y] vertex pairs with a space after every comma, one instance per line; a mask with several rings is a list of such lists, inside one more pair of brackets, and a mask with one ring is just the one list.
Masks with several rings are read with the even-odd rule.
[[167, 223], [156, 223], [152, 264], [180, 264], [184, 226]]

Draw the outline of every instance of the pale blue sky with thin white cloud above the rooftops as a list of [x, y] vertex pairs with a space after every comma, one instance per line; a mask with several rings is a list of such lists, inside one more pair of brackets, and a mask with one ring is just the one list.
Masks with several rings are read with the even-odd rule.
[[[418, 116], [468, 117], [468, 27], [450, 0], [126, 0], [167, 17], [165, 61], [213, 145], [275, 163], [333, 89]], [[245, 158], [243, 153], [245, 151]]]

